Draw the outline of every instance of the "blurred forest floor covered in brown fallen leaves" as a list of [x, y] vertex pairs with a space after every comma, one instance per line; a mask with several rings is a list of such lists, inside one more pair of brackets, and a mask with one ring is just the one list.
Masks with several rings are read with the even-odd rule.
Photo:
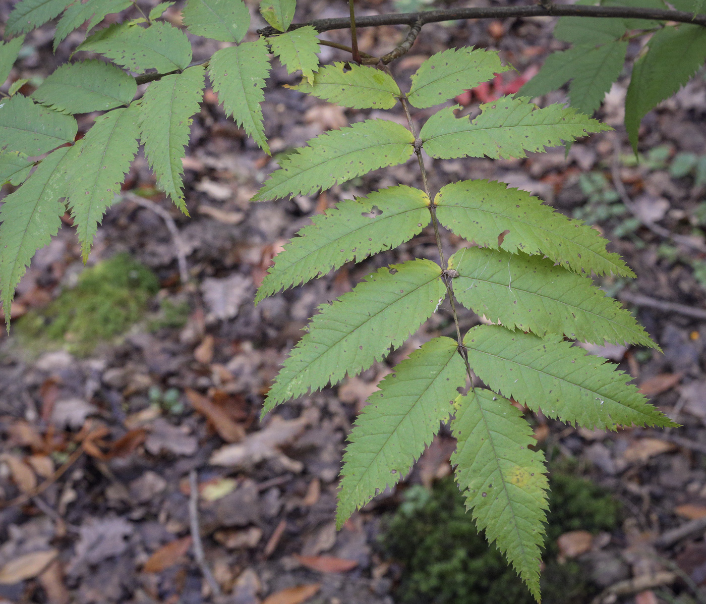
[[[0, 23], [11, 4], [0, 2]], [[340, 0], [299, 5], [297, 20], [347, 14]], [[396, 9], [400, 4], [361, 1], [359, 10]], [[167, 14], [179, 20], [174, 9]], [[561, 48], [551, 39], [553, 24], [546, 18], [429, 25], [412, 52], [392, 65], [393, 73], [407, 81], [421, 61], [448, 47], [498, 49], [517, 71], [460, 99], [473, 110], [493, 94], [516, 90], [517, 78], [536, 73], [549, 49]], [[66, 61], [83, 36], [75, 32], [54, 55], [52, 31], [42, 28], [26, 40], [12, 74], [30, 78], [23, 92]], [[395, 27], [361, 30], [361, 49], [379, 56], [404, 33]], [[342, 32], [328, 38], [345, 42]], [[200, 39], [194, 45], [196, 60], [217, 49]], [[635, 42], [630, 52], [638, 50]], [[330, 47], [322, 51], [322, 62], [345, 59]], [[282, 87], [296, 79], [277, 66], [268, 83], [263, 111], [275, 154], [328, 129], [382, 116]], [[531, 191], [596, 225], [637, 274], [629, 283], [604, 279], [599, 285], [634, 310], [664, 353], [618, 346], [590, 352], [619, 363], [683, 427], [592, 432], [541, 414], [527, 417], [553, 458], [570, 462], [574, 473], [621, 502], [621, 522], [611, 531], [573, 531], [558, 543], [563, 559], [577, 559], [597, 586], [596, 601], [706, 602], [706, 83], [699, 75], [645, 118], [639, 163], [622, 125], [626, 85], [623, 74], [598, 116], [615, 131], [575, 143], [568, 157], [554, 148], [522, 160], [427, 158], [431, 187], [489, 178]], [[556, 93], [542, 102], [563, 99]], [[390, 115], [404, 119], [401, 110]], [[413, 117], [419, 123], [428, 115], [421, 110]], [[79, 118], [80, 129], [89, 125], [88, 116]], [[138, 156], [88, 261], [102, 266], [110, 280], [119, 263], [100, 262], [127, 253], [157, 276], [154, 287], [148, 278], [128, 280], [128, 290], [147, 292], [146, 313], [119, 337], [94, 346], [90, 333], [69, 322], [60, 341], [38, 339], [37, 321], [48, 320], [47, 304], [54, 301], [64, 314], [90, 304], [59, 297], [83, 270], [69, 218], [35, 257], [13, 304], [11, 334], [0, 331], [0, 602], [400, 601], [395, 588], [402, 567], [383, 555], [381, 526], [410, 485], [429, 487], [451, 473], [453, 439], [442, 430], [405, 482], [338, 532], [337, 475], [346, 435], [367, 396], [395, 362], [448, 334], [448, 309], [361, 376], [282, 405], [266, 418], [260, 409], [278, 365], [318, 304], [384, 264], [434, 258], [433, 233], [425, 230], [395, 251], [346, 265], [257, 307], [253, 297], [273, 256], [311, 215], [383, 186], [418, 185], [418, 172], [409, 163], [318, 196], [250, 203], [275, 165], [225, 118], [210, 89], [194, 117], [184, 160], [191, 218], [154, 189]], [[447, 251], [455, 251], [460, 242], [445, 237]], [[86, 287], [89, 294], [100, 289]], [[136, 296], [121, 304], [133, 302], [139, 315]], [[120, 323], [116, 308], [87, 316]], [[469, 327], [480, 319], [465, 312], [461, 321]], [[93, 327], [100, 333], [100, 325]], [[193, 554], [193, 523], [203, 542], [202, 561]]]

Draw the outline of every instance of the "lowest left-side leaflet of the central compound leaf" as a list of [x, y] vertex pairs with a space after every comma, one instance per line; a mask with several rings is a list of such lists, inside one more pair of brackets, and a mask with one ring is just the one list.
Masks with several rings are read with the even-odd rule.
[[356, 420], [343, 456], [336, 525], [393, 486], [448, 420], [466, 371], [458, 345], [434, 338], [381, 381]]

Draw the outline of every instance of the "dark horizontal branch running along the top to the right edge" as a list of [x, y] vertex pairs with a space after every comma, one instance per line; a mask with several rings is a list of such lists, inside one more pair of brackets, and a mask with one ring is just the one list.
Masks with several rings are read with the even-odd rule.
[[[409, 25], [421, 20], [426, 23], [465, 19], [506, 19], [513, 17], [599, 17], [599, 18], [642, 18], [657, 21], [676, 21], [706, 26], [706, 14], [693, 16], [687, 11], [670, 11], [661, 8], [635, 8], [631, 6], [584, 6], [580, 4], [552, 4], [539, 6], [472, 6], [467, 8], [444, 8], [438, 11], [420, 13], [389, 13], [356, 18], [357, 28], [374, 28], [380, 25]], [[346, 17], [333, 19], [313, 19], [306, 23], [292, 23], [289, 31], [311, 25], [318, 32], [345, 30], [350, 27]], [[281, 33], [275, 28], [266, 27], [258, 30], [262, 35]]]

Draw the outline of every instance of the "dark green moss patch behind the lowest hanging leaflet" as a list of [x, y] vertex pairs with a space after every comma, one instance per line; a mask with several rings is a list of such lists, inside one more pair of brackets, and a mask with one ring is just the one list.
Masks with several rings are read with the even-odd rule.
[[[578, 529], [611, 531], [618, 524], [620, 506], [582, 478], [556, 474], [550, 485], [542, 603], [589, 603], [598, 588], [578, 562], [556, 561], [556, 539]], [[477, 533], [451, 477], [438, 482], [431, 492], [417, 485], [407, 490], [381, 544], [386, 555], [404, 568], [395, 598], [400, 603], [534, 603], [501, 553]]]

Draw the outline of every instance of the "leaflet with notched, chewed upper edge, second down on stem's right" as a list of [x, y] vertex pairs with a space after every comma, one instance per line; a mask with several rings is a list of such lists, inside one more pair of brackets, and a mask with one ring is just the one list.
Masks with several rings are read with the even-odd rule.
[[611, 130], [570, 107], [555, 104], [538, 109], [523, 97], [484, 103], [472, 122], [467, 117], [457, 119], [453, 112], [458, 108], [441, 109], [422, 127], [419, 138], [431, 157], [526, 158], [525, 151], [544, 151], [544, 147], [575, 141], [589, 132]]

